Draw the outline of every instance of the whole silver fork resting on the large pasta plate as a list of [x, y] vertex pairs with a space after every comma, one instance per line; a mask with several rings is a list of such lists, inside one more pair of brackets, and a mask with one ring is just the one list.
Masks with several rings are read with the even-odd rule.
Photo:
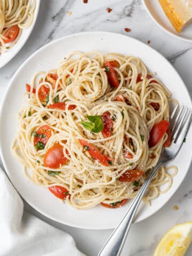
[[130, 205], [123, 219], [118, 224], [117, 228], [114, 230], [105, 245], [102, 247], [98, 256], [118, 256], [121, 254], [134, 215], [137, 212], [141, 199], [145, 195], [151, 180], [153, 179], [159, 167], [171, 161], [177, 156], [182, 146], [183, 140], [186, 138], [192, 117], [192, 112], [189, 111], [187, 108], [181, 107], [179, 111], [178, 109], [179, 106], [177, 105], [174, 108], [170, 118], [169, 128], [171, 130], [171, 146], [169, 148], [165, 148], [162, 152], [157, 162], [157, 165], [154, 167], [153, 170], [149, 172], [145, 182], [139, 190], [139, 193], [134, 198], [132, 204]]

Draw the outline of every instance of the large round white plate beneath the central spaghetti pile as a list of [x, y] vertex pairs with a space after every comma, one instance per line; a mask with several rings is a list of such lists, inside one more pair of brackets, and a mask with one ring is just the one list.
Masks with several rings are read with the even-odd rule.
[[[25, 84], [39, 70], [48, 71], [58, 67], [59, 61], [72, 51], [119, 52], [139, 57], [150, 71], [171, 90], [180, 105], [192, 108], [189, 93], [182, 79], [171, 64], [158, 52], [146, 44], [128, 36], [108, 32], [79, 33], [57, 39], [31, 55], [17, 70], [6, 91], [0, 121], [1, 156], [6, 173], [20, 195], [37, 211], [46, 217], [69, 226], [86, 229], [115, 228], [127, 210], [128, 204], [118, 209], [107, 209], [98, 205], [89, 210], [76, 210], [67, 203], [61, 203], [50, 191], [29, 182], [22, 173], [22, 165], [11, 154], [11, 143], [18, 130], [17, 113], [24, 105], [22, 94]], [[191, 133], [192, 127], [190, 129]], [[171, 198], [188, 171], [192, 157], [192, 136], [188, 136], [179, 155], [170, 165], [177, 165], [179, 172], [173, 178], [171, 189], [151, 202], [151, 206], [141, 204], [136, 222], [146, 219]]]

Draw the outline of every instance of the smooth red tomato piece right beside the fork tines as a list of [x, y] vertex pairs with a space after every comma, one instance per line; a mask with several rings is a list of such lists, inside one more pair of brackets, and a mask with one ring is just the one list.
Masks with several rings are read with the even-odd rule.
[[170, 123], [166, 120], [162, 120], [155, 124], [150, 131], [149, 147], [154, 147], [163, 138], [165, 132], [169, 128]]

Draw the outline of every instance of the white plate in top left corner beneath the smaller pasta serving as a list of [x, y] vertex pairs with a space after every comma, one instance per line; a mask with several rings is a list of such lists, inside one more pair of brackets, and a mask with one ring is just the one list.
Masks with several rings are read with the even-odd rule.
[[23, 45], [26, 43], [28, 37], [30, 36], [35, 26], [35, 22], [37, 20], [37, 15], [38, 15], [39, 6], [40, 6], [40, 1], [41, 0], [36, 0], [34, 20], [31, 26], [29, 28], [23, 29], [21, 33], [21, 37], [19, 38], [18, 42], [15, 45], [13, 45], [13, 47], [11, 47], [8, 51], [0, 55], [0, 68], [5, 66], [6, 63], [8, 63], [11, 59], [13, 59], [13, 57], [21, 50]]

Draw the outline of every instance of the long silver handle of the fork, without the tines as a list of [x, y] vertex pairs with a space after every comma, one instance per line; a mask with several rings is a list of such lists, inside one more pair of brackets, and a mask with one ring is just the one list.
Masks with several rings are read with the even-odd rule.
[[123, 245], [126, 239], [126, 236], [129, 232], [131, 223], [133, 221], [134, 215], [137, 212], [139, 204], [141, 202], [142, 197], [145, 195], [151, 180], [153, 179], [156, 171], [161, 167], [163, 164], [162, 161], [159, 161], [156, 167], [151, 170], [145, 180], [143, 185], [141, 186], [137, 196], [134, 198], [132, 204], [130, 205], [129, 209], [125, 213], [123, 219], [118, 224], [117, 228], [113, 231], [111, 236], [108, 238], [105, 245], [103, 245], [101, 251], [99, 252], [98, 256], [118, 256], [120, 255]]

